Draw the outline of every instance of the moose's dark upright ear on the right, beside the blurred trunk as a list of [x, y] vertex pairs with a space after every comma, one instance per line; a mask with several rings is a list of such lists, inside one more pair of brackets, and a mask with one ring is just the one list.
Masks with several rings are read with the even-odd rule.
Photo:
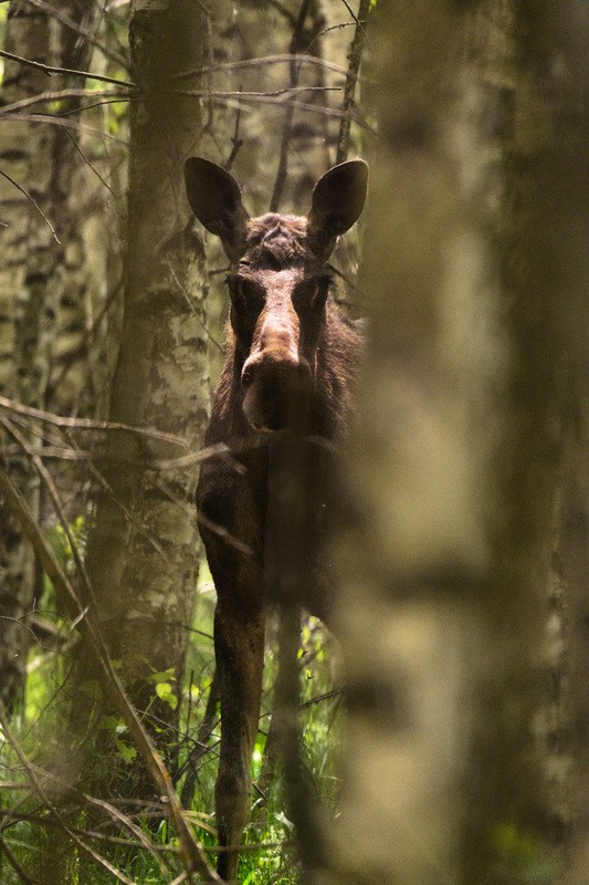
[[325, 173], [313, 188], [307, 237], [313, 251], [327, 259], [340, 233], [360, 217], [368, 188], [368, 165], [364, 159], [340, 163]]

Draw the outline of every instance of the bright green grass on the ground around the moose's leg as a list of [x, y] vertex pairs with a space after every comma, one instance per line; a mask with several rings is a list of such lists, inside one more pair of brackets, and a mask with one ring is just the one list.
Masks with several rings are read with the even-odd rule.
[[[62, 539], [56, 539], [60, 544]], [[67, 551], [63, 551], [66, 558]], [[45, 589], [42, 606], [46, 612], [54, 612], [51, 586]], [[194, 615], [194, 632], [188, 656], [187, 684], [181, 687], [182, 721], [179, 739], [179, 770], [193, 746], [207, 705], [208, 690], [214, 671], [212, 646], [212, 620], [214, 594], [210, 575], [203, 570]], [[275, 631], [272, 624], [269, 635]], [[301, 667], [301, 757], [308, 772], [314, 791], [328, 809], [334, 809], [338, 794], [337, 760], [340, 743], [341, 710], [340, 697], [333, 695], [332, 641], [318, 622], [309, 621], [302, 632], [299, 650]], [[64, 847], [72, 848], [72, 840], [63, 839], [60, 827], [55, 825], [48, 801], [60, 809], [69, 825], [80, 831], [81, 837], [93, 851], [107, 856], [108, 861], [136, 885], [165, 885], [171, 882], [181, 871], [178, 857], [178, 840], [166, 819], [146, 820], [133, 815], [135, 824], [141, 827], [149, 841], [158, 846], [161, 861], [158, 862], [145, 847], [108, 843], [105, 836], [138, 840], [129, 834], [125, 826], [113, 824], [112, 818], [102, 810], [88, 816], [87, 806], [80, 795], [64, 793], [67, 763], [72, 750], [65, 747], [62, 735], [65, 733], [69, 709], [72, 700], [70, 680], [71, 664], [66, 656], [50, 655], [39, 647], [33, 647], [30, 660], [30, 676], [27, 686], [27, 702], [23, 710], [14, 717], [13, 729], [27, 758], [33, 766], [45, 791], [45, 798], [29, 789], [0, 790], [0, 809], [11, 814], [10, 824], [3, 830], [3, 839], [15, 861], [31, 878], [39, 877], [48, 864]], [[272, 718], [273, 687], [276, 679], [277, 664], [272, 644], [269, 645], [264, 670], [264, 694], [260, 732], [252, 760], [252, 777], [255, 780], [264, 766], [267, 729]], [[338, 677], [336, 677], [338, 681]], [[169, 696], [167, 686], [171, 684], [173, 691], [179, 689], [168, 674], [154, 675], [154, 691], [161, 699], [162, 694]], [[92, 686], [87, 687], [88, 709], [93, 708]], [[120, 770], [125, 764], [132, 766], [135, 751], [124, 727], [116, 717], [101, 720], [96, 707], [90, 721], [90, 733], [77, 740], [102, 742], [103, 756], [96, 764], [101, 773], [113, 770], [113, 787], [122, 798], [125, 795], [125, 778]], [[219, 726], [217, 725], [208, 741], [206, 753], [199, 759], [196, 787], [190, 803], [193, 832], [214, 864], [214, 816], [213, 792], [218, 766]], [[65, 750], [64, 750], [65, 747]], [[116, 757], [116, 759], [115, 759]], [[126, 760], [126, 761], [125, 761]], [[116, 764], [115, 764], [116, 762]], [[48, 778], [44, 770], [61, 771], [63, 782]], [[182, 791], [182, 774], [176, 783], [178, 794]], [[27, 771], [19, 761], [13, 748], [0, 737], [0, 781], [6, 783], [28, 783]], [[90, 789], [90, 788], [88, 788]], [[130, 806], [120, 804], [120, 809], [132, 815]], [[7, 818], [4, 816], [4, 822]], [[77, 830], [76, 830], [77, 829]], [[97, 833], [98, 839], [91, 833]], [[244, 833], [244, 850], [240, 860], [240, 881], [244, 885], [295, 885], [299, 882], [294, 848], [295, 835], [293, 824], [288, 820], [284, 791], [281, 783], [280, 767], [274, 777], [266, 781], [264, 798], [252, 791], [252, 819]], [[0, 857], [2, 851], [0, 847]], [[64, 872], [64, 881], [60, 885], [111, 885], [119, 879], [98, 862], [84, 855], [81, 851], [70, 851], [70, 861]], [[161, 864], [168, 867], [162, 872]], [[2, 885], [20, 885], [22, 878], [12, 870], [7, 858], [0, 860], [0, 882]]]

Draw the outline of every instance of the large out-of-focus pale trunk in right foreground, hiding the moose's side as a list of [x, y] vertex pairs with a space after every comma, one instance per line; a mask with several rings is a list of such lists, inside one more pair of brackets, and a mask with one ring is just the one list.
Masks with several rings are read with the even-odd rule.
[[582, 353], [586, 13], [572, 0], [377, 9], [333, 881], [550, 882], [533, 723]]

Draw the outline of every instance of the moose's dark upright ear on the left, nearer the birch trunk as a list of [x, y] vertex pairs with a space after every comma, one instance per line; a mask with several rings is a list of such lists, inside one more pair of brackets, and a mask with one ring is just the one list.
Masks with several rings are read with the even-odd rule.
[[198, 220], [221, 238], [230, 260], [243, 254], [250, 216], [235, 179], [215, 163], [190, 157], [185, 164], [186, 192]]

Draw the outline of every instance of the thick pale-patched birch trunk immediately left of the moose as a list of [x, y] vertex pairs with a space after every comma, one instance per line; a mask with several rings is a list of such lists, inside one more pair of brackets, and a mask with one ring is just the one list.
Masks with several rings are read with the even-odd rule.
[[[111, 654], [172, 757], [198, 572], [197, 465], [158, 472], [157, 462], [198, 449], [208, 414], [202, 246], [186, 227], [182, 177], [199, 105], [175, 92], [175, 75], [201, 65], [203, 28], [201, 13], [179, 0], [132, 10], [132, 76], [141, 98], [132, 106], [125, 313], [109, 417], [173, 434], [183, 446], [111, 435], [109, 488], [99, 488], [87, 550], [92, 607]], [[158, 681], [165, 689], [156, 693]], [[151, 794], [147, 784], [137, 789]]]

